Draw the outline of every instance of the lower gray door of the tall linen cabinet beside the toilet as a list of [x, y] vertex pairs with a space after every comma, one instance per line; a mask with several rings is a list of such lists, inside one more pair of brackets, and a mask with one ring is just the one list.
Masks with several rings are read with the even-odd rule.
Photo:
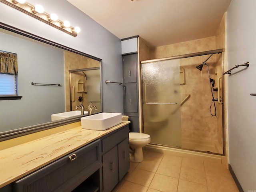
[[124, 112], [138, 112], [138, 103], [137, 103], [137, 84], [128, 83], [125, 84], [125, 93], [124, 93]]

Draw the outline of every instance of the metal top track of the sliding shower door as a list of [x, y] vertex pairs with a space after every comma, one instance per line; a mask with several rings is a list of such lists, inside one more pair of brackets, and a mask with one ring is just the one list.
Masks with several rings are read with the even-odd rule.
[[216, 50], [203, 51], [203, 52], [197, 52], [197, 53], [190, 53], [190, 54], [184, 54], [184, 55], [178, 55], [178, 56], [172, 56], [172, 57], [165, 57], [165, 58], [159, 58], [159, 59], [150, 59], [150, 60], [142, 61], [140, 63], [144, 64], [144, 63], [164, 61], [164, 60], [171, 60], [171, 59], [182, 59], [182, 58], [188, 58], [188, 57], [196, 57], [196, 56], [202, 56], [202, 55], [222, 53], [223, 51], [224, 51], [224, 49], [216, 49]]

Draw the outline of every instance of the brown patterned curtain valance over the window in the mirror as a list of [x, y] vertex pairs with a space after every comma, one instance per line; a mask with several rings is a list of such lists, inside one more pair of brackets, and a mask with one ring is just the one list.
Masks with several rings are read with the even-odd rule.
[[0, 52], [0, 73], [18, 74], [17, 54]]

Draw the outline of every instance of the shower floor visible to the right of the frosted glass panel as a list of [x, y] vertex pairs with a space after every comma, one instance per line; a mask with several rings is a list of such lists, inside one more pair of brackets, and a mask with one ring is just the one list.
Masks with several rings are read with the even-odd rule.
[[223, 154], [223, 150], [216, 141], [203, 141], [182, 138], [182, 148]]

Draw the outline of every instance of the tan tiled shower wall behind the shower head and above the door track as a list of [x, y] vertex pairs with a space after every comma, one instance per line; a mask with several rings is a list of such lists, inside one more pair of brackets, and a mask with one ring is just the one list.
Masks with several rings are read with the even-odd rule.
[[[153, 48], [151, 50], [151, 58], [164, 58], [215, 50], [217, 49], [216, 43], [218, 43], [218, 48], [221, 48], [219, 43], [221, 42], [221, 32], [222, 30], [220, 29], [217, 36]], [[207, 68], [204, 66], [202, 72], [196, 69], [196, 66], [202, 64], [208, 57], [209, 55], [180, 59], [180, 66], [185, 69], [186, 75], [185, 85], [180, 86], [181, 100], [191, 94], [191, 97], [181, 107], [182, 138], [218, 141], [219, 146], [222, 147], [222, 105], [215, 102], [217, 115], [215, 117], [210, 115], [209, 108], [212, 95]], [[215, 67], [221, 65], [221, 54], [214, 54], [207, 61], [207, 64], [210, 70], [210, 78], [213, 78], [216, 84]], [[214, 98], [217, 98], [217, 92], [215, 92]], [[215, 113], [214, 106], [212, 106], [212, 113]]]

